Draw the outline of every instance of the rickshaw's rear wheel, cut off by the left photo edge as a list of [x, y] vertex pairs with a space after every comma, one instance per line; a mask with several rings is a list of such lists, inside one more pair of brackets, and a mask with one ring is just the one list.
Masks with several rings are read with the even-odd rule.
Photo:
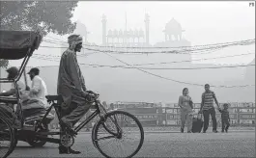
[[14, 129], [11, 124], [0, 117], [0, 157], [7, 158], [14, 150]]

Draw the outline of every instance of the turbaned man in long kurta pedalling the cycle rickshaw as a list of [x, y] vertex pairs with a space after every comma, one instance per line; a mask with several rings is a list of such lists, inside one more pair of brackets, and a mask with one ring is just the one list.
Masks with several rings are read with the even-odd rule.
[[[63, 53], [60, 61], [57, 92], [63, 98], [61, 122], [71, 129], [88, 112], [90, 104], [85, 100], [88, 93], [76, 59], [76, 52], [80, 52], [82, 48], [82, 38], [79, 35], [71, 35], [68, 42], [70, 47]], [[80, 152], [60, 145], [59, 153]]]

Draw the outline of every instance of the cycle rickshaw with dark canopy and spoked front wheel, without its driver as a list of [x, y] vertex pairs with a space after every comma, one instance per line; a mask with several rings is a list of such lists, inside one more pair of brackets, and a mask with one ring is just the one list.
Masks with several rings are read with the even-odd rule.
[[[33, 31], [0, 31], [0, 59], [19, 60], [23, 59], [18, 75], [14, 80], [0, 78], [0, 83], [13, 83], [16, 90], [14, 97], [0, 96], [0, 157], [6, 158], [13, 151], [18, 141], [27, 142], [32, 146], [43, 146], [45, 143], [61, 144], [70, 147], [74, 143], [75, 135], [93, 118], [99, 118], [92, 129], [93, 145], [105, 157], [132, 157], [141, 148], [144, 142], [144, 131], [140, 121], [125, 111], [107, 111], [100, 103], [99, 93], [91, 92], [87, 100], [92, 103], [91, 109], [95, 112], [90, 117], [78, 123], [74, 128], [75, 133], [69, 130], [51, 131], [48, 124], [53, 119], [52, 111], [60, 120], [62, 97], [60, 95], [47, 95], [46, 99], [50, 107], [45, 112], [36, 112], [28, 118], [23, 117], [22, 101], [17, 89], [16, 82], [20, 79], [33, 52], [39, 48], [43, 37], [39, 32]], [[91, 99], [90, 99], [91, 98]], [[9, 105], [17, 105], [16, 110]], [[20, 122], [20, 126], [14, 123]], [[127, 131], [128, 130], [128, 131]], [[60, 136], [59, 139], [50, 136]], [[131, 138], [128, 138], [131, 135]], [[132, 140], [122, 148], [126, 140]], [[101, 143], [106, 141], [105, 144]], [[109, 146], [112, 141], [111, 146]], [[8, 142], [6, 146], [4, 143]], [[3, 143], [3, 144], [2, 144]], [[119, 145], [113, 145], [119, 143]], [[108, 146], [108, 147], [107, 147]], [[121, 149], [121, 151], [120, 151]], [[130, 151], [129, 151], [130, 150]], [[124, 155], [121, 155], [124, 154]]]

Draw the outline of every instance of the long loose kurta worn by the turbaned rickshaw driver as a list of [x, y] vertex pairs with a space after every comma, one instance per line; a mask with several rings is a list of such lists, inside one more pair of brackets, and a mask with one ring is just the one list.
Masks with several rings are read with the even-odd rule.
[[57, 92], [62, 95], [64, 103], [62, 108], [67, 109], [71, 102], [79, 105], [85, 104], [82, 92], [85, 92], [84, 78], [78, 66], [76, 53], [68, 49], [61, 57]]

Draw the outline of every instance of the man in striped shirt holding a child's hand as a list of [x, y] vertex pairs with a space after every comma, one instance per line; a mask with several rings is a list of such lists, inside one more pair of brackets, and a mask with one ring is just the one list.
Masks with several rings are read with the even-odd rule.
[[219, 109], [219, 105], [218, 105], [215, 93], [210, 90], [210, 85], [206, 84], [205, 92], [203, 92], [203, 94], [202, 94], [202, 102], [201, 102], [201, 109], [200, 109], [200, 113], [203, 113], [203, 115], [204, 115], [203, 133], [206, 133], [206, 131], [208, 129], [210, 115], [213, 120], [213, 132], [217, 133], [216, 114], [215, 114], [215, 109], [213, 107], [213, 100], [215, 101], [215, 103]]

